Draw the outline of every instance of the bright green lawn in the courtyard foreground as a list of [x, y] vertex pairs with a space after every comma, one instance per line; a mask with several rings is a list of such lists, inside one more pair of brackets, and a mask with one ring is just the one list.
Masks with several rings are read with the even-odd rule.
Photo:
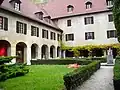
[[65, 65], [32, 65], [25, 76], [0, 82], [4, 90], [62, 90], [63, 75], [74, 69]]

